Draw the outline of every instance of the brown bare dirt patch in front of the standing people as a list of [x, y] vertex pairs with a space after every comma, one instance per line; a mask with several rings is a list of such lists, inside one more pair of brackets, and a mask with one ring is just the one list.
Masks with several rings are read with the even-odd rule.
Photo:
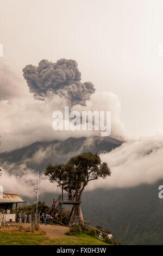
[[51, 239], [59, 238], [66, 236], [65, 233], [69, 231], [68, 227], [64, 227], [61, 225], [42, 225], [40, 224], [40, 228], [46, 232], [46, 236]]

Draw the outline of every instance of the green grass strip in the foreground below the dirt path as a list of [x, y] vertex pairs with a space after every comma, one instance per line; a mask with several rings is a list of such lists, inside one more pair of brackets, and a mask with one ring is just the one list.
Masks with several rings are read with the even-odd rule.
[[80, 233], [75, 236], [49, 239], [42, 234], [0, 232], [0, 245], [108, 245], [95, 236]]

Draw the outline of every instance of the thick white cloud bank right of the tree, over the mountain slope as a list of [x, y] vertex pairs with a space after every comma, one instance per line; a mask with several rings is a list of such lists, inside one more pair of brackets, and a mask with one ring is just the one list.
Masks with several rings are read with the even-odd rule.
[[153, 184], [163, 179], [163, 136], [142, 137], [129, 141], [110, 153], [101, 154], [108, 162], [111, 176], [89, 184], [89, 190], [97, 187], [123, 188], [140, 184]]

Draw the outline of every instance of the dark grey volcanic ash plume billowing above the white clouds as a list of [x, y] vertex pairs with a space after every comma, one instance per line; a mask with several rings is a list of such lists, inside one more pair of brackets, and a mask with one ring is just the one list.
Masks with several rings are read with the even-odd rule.
[[39, 66], [27, 65], [23, 76], [34, 97], [43, 100], [49, 92], [65, 96], [71, 105], [83, 105], [95, 92], [91, 82], [81, 83], [81, 73], [75, 60], [60, 59], [56, 63], [41, 60]]

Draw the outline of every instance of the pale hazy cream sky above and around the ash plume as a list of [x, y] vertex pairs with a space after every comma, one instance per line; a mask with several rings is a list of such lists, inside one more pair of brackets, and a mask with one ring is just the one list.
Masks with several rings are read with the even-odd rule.
[[0, 0], [0, 62], [26, 87], [27, 64], [75, 59], [82, 81], [119, 97], [129, 135], [154, 135], [163, 131], [162, 11], [162, 0]]

